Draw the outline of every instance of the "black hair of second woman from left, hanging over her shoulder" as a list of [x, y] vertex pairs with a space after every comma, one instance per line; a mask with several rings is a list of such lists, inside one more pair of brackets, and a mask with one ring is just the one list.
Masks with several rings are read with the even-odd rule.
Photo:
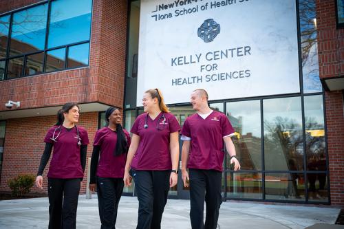
[[[109, 107], [107, 111], [105, 111], [105, 120], [109, 124], [109, 117], [111, 113], [114, 111], [119, 110], [116, 107]], [[123, 153], [127, 153], [128, 151], [128, 142], [127, 138], [125, 137], [125, 132], [123, 131], [121, 124], [116, 124], [116, 131], [117, 131], [117, 142], [116, 147], [114, 149], [114, 156], [122, 155]]]

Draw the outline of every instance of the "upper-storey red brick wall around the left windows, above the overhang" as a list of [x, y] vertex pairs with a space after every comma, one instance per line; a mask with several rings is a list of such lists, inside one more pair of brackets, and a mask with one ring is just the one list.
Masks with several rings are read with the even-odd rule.
[[[36, 1], [0, 1], [1, 12]], [[21, 109], [102, 102], [122, 107], [127, 39], [127, 1], [94, 0], [89, 67], [0, 81], [0, 104], [21, 101]], [[0, 111], [5, 111], [0, 106]]]

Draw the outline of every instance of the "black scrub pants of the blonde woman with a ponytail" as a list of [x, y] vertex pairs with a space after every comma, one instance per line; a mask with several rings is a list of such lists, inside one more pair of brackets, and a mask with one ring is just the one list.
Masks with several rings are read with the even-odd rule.
[[136, 171], [131, 169], [138, 194], [138, 226], [136, 229], [160, 229], [169, 193], [171, 171]]

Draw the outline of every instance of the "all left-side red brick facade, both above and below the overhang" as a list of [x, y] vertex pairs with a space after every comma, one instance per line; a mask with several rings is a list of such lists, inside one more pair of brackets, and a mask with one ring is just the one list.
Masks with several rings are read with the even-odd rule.
[[[0, 0], [0, 13], [29, 6], [39, 1]], [[70, 69], [39, 76], [0, 81], [0, 103], [21, 101], [20, 109], [61, 106], [65, 102], [100, 102], [122, 107], [127, 41], [127, 1], [93, 0], [89, 67]], [[6, 111], [0, 106], [0, 111]], [[43, 153], [45, 131], [56, 122], [55, 116], [9, 119], [0, 190], [9, 190], [7, 182], [19, 173], [36, 174]], [[98, 129], [98, 112], [81, 113], [80, 125], [89, 133], [92, 143]], [[25, 137], [24, 137], [25, 136]], [[48, 170], [45, 168], [45, 177]], [[46, 187], [45, 179], [45, 187]], [[84, 179], [81, 193], [85, 193]], [[33, 192], [44, 192], [33, 188]]]

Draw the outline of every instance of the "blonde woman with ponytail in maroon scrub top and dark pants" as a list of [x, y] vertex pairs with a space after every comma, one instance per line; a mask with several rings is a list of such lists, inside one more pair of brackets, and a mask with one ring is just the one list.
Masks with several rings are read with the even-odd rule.
[[[135, 181], [138, 194], [137, 229], [160, 228], [169, 188], [177, 184], [180, 125], [158, 89], [142, 99], [144, 112], [136, 118], [125, 165], [125, 185]], [[129, 169], [131, 168], [129, 175]]]

